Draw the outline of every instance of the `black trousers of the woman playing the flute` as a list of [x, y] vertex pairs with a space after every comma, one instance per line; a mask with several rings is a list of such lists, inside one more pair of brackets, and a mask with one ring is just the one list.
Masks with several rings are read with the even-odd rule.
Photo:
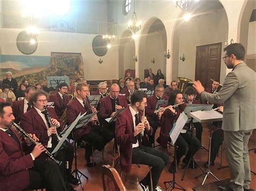
[[[192, 140], [192, 142], [191, 142]], [[187, 130], [186, 133], [180, 133], [179, 137], [176, 140], [178, 150], [177, 150], [177, 163], [180, 161], [180, 158], [186, 154], [184, 161], [188, 161], [192, 156], [199, 150], [201, 147], [201, 142], [197, 137], [192, 135], [191, 132]], [[193, 144], [193, 146], [191, 146]]]

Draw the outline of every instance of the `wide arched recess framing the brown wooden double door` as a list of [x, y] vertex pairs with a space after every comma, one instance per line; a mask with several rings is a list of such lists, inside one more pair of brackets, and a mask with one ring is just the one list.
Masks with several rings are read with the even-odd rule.
[[[204, 85], [210, 84], [210, 77], [213, 73], [221, 79], [225, 77], [225, 65], [221, 62], [223, 48], [228, 38], [228, 19], [223, 5], [218, 1], [200, 1], [192, 11], [192, 18], [187, 22], [183, 20], [183, 13], [180, 13], [173, 30], [172, 36], [172, 80], [177, 77], [186, 77], [192, 81], [196, 78], [196, 68], [204, 68], [205, 72], [198, 75], [204, 79]], [[218, 51], [210, 53], [209, 49], [205, 52], [197, 52], [198, 47], [203, 45], [219, 44]], [[196, 60], [197, 54], [206, 54]], [[183, 58], [185, 60], [181, 60]], [[212, 62], [211, 57], [216, 58]], [[204, 63], [203, 63], [204, 62]], [[218, 64], [218, 67], [215, 67]], [[213, 68], [214, 65], [214, 69]], [[201, 80], [200, 79], [200, 80]], [[219, 79], [217, 79], [219, 80]]]

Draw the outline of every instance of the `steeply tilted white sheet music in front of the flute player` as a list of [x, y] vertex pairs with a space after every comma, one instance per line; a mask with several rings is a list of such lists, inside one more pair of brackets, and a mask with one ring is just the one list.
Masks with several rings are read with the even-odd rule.
[[173, 124], [173, 127], [171, 131], [169, 132], [169, 136], [171, 138], [171, 143], [174, 145], [176, 143], [176, 140], [183, 129], [184, 125], [186, 124], [187, 116], [184, 112], [182, 112], [179, 115], [179, 118], [177, 119], [176, 123]]

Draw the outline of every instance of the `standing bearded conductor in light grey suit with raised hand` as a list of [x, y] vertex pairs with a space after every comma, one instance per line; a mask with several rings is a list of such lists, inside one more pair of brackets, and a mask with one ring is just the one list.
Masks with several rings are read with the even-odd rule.
[[[204, 91], [199, 81], [193, 87], [203, 100], [223, 103], [224, 143], [230, 168], [230, 188], [250, 189], [251, 172], [248, 155], [248, 141], [255, 129], [255, 72], [244, 62], [245, 48], [233, 43], [224, 48], [223, 60], [232, 69], [225, 77], [223, 87], [216, 94]], [[220, 188], [220, 187], [219, 187]]]

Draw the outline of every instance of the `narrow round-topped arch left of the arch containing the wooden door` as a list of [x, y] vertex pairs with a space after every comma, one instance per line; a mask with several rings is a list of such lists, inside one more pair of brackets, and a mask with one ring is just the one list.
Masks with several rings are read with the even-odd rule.
[[[144, 25], [139, 39], [139, 77], [144, 78], [144, 69], [152, 68], [154, 74], [158, 69], [166, 74], [167, 36], [163, 22], [150, 18]], [[154, 60], [154, 63], [153, 63]], [[165, 75], [166, 76], [166, 75]]]

